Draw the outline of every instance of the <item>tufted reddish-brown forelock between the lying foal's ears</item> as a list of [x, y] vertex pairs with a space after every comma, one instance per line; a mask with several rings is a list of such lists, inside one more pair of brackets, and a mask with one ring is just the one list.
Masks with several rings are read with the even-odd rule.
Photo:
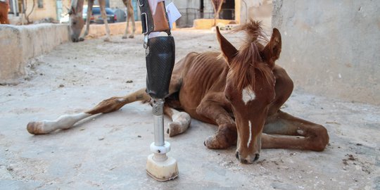
[[261, 22], [250, 20], [250, 22], [236, 27], [232, 32], [241, 31], [246, 32], [246, 39], [232, 62], [229, 63], [230, 72], [227, 78], [234, 80], [238, 91], [242, 91], [248, 85], [255, 90], [255, 80], [260, 77], [255, 74], [260, 74], [268, 84], [274, 84], [272, 70], [267, 64], [261, 63], [260, 51], [264, 49], [264, 45], [261, 43], [269, 42], [267, 35], [262, 31]]

